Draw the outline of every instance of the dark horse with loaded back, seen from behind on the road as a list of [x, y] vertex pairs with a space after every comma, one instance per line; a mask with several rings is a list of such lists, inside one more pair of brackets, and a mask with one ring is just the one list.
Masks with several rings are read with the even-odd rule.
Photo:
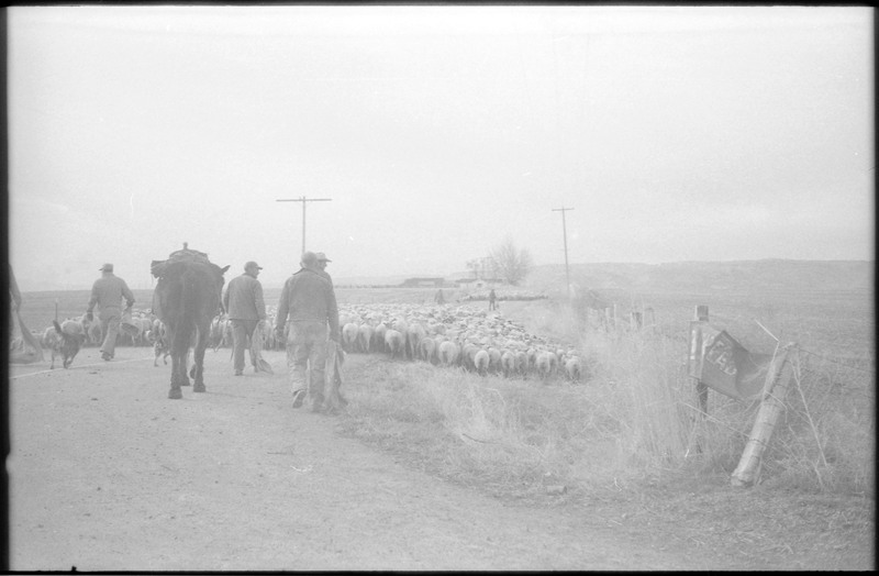
[[[153, 261], [152, 272], [158, 278], [153, 293], [153, 312], [168, 329], [171, 355], [171, 389], [168, 398], [179, 399], [181, 386], [194, 380], [192, 391], [203, 392], [204, 350], [211, 331], [211, 320], [220, 310], [223, 289], [221, 268], [208, 261], [208, 255], [187, 250], [171, 254], [167, 261]], [[187, 376], [189, 346], [193, 347], [194, 364]]]

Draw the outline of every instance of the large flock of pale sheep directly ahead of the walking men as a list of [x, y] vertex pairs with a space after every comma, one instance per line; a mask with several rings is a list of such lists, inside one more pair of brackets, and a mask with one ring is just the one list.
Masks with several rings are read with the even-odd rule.
[[[283, 350], [275, 336], [274, 307], [257, 337], [262, 350]], [[84, 317], [67, 319], [62, 329], [81, 339], [84, 345], [100, 345], [100, 322]], [[578, 353], [558, 342], [530, 334], [524, 326], [499, 313], [469, 306], [449, 304], [343, 304], [340, 307], [342, 347], [348, 353], [387, 354], [391, 359], [427, 362], [435, 366], [461, 367], [479, 374], [505, 377], [555, 376], [580, 381], [583, 365]], [[55, 329], [47, 328], [43, 344], [52, 347]], [[210, 346], [232, 346], [231, 322], [218, 315], [211, 323]], [[134, 310], [120, 331], [118, 344], [153, 345], [156, 358], [167, 354], [164, 326], [151, 311]], [[54, 366], [53, 366], [54, 367]]]

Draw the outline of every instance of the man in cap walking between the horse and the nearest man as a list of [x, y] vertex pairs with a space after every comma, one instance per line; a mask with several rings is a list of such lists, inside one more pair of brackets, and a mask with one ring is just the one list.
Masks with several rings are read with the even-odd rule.
[[[232, 367], [235, 376], [244, 374], [244, 350], [256, 326], [266, 321], [266, 303], [263, 285], [256, 279], [263, 267], [251, 261], [244, 265], [244, 274], [232, 278], [223, 293], [223, 308], [232, 322]], [[254, 369], [257, 369], [254, 366]]]

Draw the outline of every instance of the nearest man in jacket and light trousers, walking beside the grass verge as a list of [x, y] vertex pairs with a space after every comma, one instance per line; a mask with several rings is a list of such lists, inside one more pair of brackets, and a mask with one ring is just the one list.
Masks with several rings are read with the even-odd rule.
[[[325, 259], [325, 257], [324, 257]], [[302, 268], [283, 284], [275, 331], [287, 339], [287, 367], [293, 392], [293, 408], [311, 399], [314, 412], [323, 408], [324, 364], [329, 336], [340, 341], [338, 307], [333, 283], [321, 269], [318, 255], [302, 254]], [[290, 326], [285, 334], [285, 325]], [[307, 383], [307, 372], [309, 381]]]

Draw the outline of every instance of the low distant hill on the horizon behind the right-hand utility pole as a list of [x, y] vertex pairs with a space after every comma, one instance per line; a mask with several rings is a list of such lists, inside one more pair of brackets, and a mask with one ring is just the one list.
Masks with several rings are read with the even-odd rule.
[[[875, 263], [868, 261], [736, 261], [668, 264], [572, 264], [570, 280], [580, 290], [653, 293], [871, 292]], [[563, 291], [563, 264], [536, 266], [523, 288]]]

